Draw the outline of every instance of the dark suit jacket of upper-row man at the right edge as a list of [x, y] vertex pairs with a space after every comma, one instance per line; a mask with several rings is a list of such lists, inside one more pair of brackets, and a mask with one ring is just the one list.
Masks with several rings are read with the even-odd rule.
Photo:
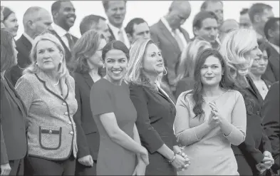
[[279, 81], [279, 59], [279, 53], [269, 44], [269, 63], [262, 78], [265, 78], [271, 83]]

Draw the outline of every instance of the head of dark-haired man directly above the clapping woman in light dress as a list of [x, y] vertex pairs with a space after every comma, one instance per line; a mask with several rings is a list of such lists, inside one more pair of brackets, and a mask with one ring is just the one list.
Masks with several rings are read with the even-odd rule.
[[219, 48], [218, 19], [211, 11], [200, 11], [192, 21], [195, 38], [202, 38], [211, 43], [212, 48]]

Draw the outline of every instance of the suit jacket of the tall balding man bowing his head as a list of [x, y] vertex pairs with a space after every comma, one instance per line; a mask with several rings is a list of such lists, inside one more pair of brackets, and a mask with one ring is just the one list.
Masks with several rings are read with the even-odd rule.
[[[185, 36], [187, 42], [190, 41], [190, 36], [185, 29], [180, 28], [180, 31]], [[167, 75], [164, 76], [163, 81], [170, 86], [171, 90], [166, 90], [167, 93], [175, 91], [175, 78], [177, 63], [180, 61], [181, 51], [176, 39], [172, 36], [170, 31], [166, 28], [162, 21], [158, 21], [156, 24], [150, 27], [150, 33], [152, 40], [159, 46], [162, 51], [162, 57], [165, 61], [167, 68]]]

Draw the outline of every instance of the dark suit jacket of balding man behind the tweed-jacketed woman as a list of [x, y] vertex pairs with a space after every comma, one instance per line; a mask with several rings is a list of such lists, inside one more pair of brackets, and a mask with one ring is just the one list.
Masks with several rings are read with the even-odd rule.
[[24, 35], [21, 35], [21, 38], [16, 41], [16, 50], [19, 52], [17, 55], [18, 64], [13, 66], [10, 71], [6, 71], [6, 77], [13, 86], [21, 78], [24, 68], [31, 64], [31, 59], [29, 58], [31, 48], [32, 43]]

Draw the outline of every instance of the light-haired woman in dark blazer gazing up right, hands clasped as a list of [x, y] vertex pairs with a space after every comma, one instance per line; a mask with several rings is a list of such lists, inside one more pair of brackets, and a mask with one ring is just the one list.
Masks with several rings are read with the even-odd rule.
[[190, 164], [185, 155], [172, 151], [179, 148], [172, 128], [176, 110], [160, 88], [165, 72], [159, 48], [151, 39], [140, 38], [133, 43], [125, 80], [130, 85], [130, 99], [137, 111], [136, 126], [141, 143], [149, 151], [146, 175], [176, 175], [177, 170], [185, 170]]

